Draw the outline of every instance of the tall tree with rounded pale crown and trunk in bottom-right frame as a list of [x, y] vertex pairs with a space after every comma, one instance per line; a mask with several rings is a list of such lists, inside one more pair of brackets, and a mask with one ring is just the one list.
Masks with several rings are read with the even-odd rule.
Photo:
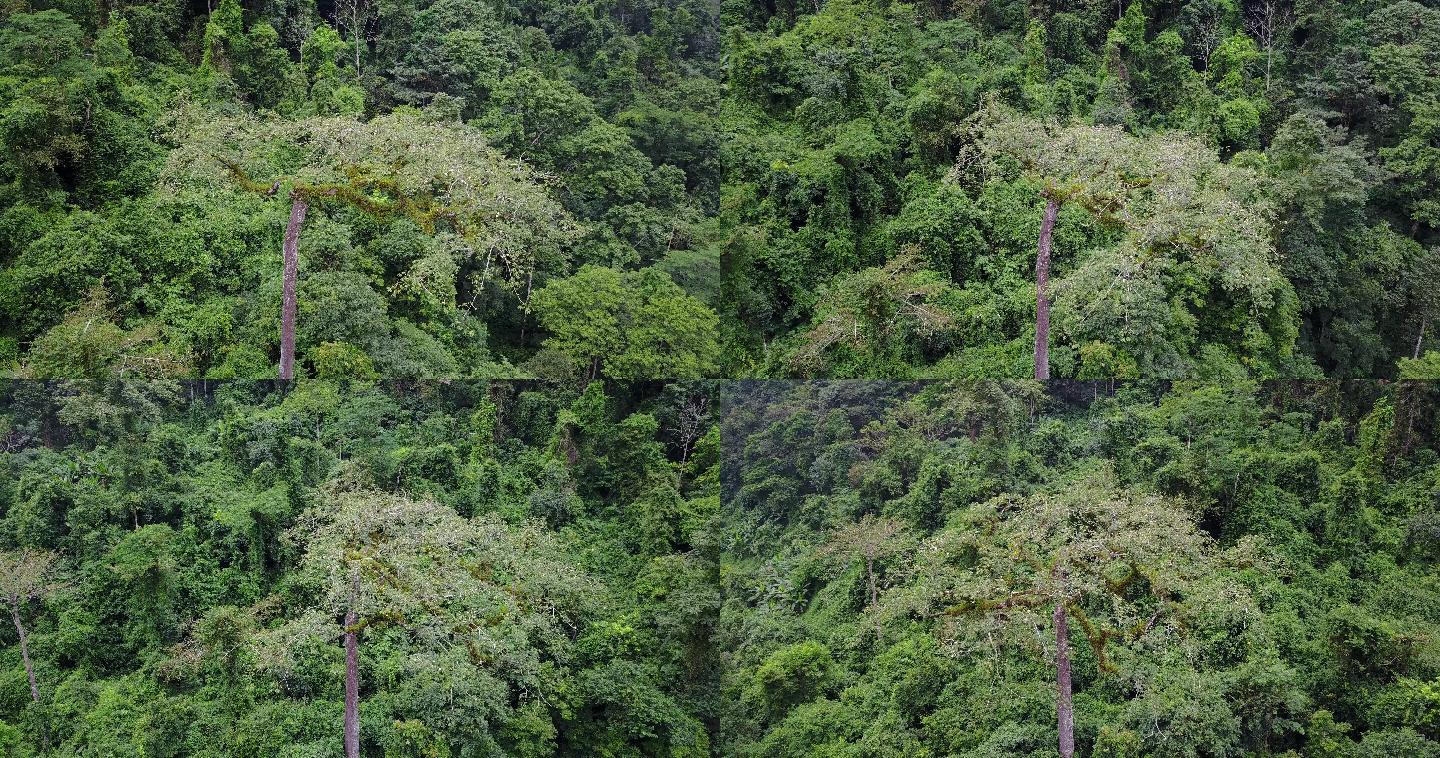
[[924, 549], [922, 595], [956, 644], [999, 636], [1034, 644], [1050, 625], [1060, 755], [1074, 757], [1070, 621], [1103, 673], [1106, 646], [1182, 633], [1178, 607], [1212, 572], [1210, 538], [1175, 500], [1136, 493], [1102, 470], [1064, 490], [973, 506]]

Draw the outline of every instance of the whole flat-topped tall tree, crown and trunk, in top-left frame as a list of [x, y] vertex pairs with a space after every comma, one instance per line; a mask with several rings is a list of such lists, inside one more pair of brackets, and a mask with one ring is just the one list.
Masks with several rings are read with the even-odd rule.
[[498, 285], [517, 308], [536, 274], [563, 274], [577, 233], [523, 163], [464, 124], [392, 114], [301, 121], [213, 118], [183, 112], [180, 147], [164, 182], [176, 195], [239, 186], [291, 202], [282, 244], [279, 378], [294, 375], [300, 235], [312, 205], [409, 220], [442, 244], [405, 275], [405, 288], [451, 310], [474, 310]]

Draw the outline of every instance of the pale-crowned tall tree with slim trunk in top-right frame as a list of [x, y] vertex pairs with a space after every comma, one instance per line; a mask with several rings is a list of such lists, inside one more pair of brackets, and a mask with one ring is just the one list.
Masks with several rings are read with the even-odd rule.
[[[1058, 125], [999, 108], [985, 111], [978, 130], [991, 166], [1005, 173], [1018, 163], [1045, 202], [1035, 246], [1037, 379], [1050, 378], [1051, 251], [1067, 205], [1116, 239], [1077, 251], [1087, 255], [1064, 282], [1074, 337], [1123, 353], [1145, 375], [1194, 373], [1176, 344], [1192, 346], [1201, 326], [1237, 329], [1240, 321], [1220, 308], [1238, 306], [1260, 326], [1241, 327], [1237, 357], [1260, 373], [1287, 359], [1295, 329], [1270, 326], [1270, 314], [1293, 323], [1295, 295], [1276, 268], [1270, 208], [1251, 171], [1221, 163], [1214, 148], [1182, 133], [1140, 138], [1120, 127]], [[1194, 291], [1171, 291], [1181, 272]]]

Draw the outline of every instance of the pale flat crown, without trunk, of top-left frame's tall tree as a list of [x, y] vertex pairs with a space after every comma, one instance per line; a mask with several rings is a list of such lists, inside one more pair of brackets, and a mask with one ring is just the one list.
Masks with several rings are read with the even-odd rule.
[[183, 108], [168, 127], [176, 148], [161, 192], [174, 200], [229, 187], [405, 218], [428, 232], [458, 235], [465, 254], [492, 261], [511, 281], [534, 269], [562, 271], [580, 233], [546, 176], [464, 124], [415, 112], [288, 121]]

